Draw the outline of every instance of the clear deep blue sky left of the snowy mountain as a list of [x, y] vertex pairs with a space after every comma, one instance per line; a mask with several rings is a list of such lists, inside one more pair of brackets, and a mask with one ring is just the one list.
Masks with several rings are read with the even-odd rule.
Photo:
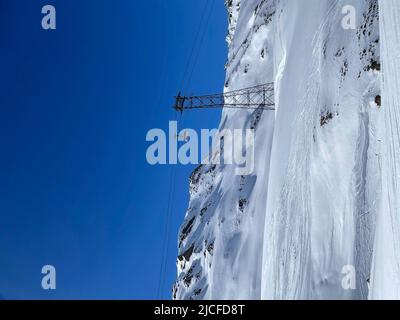
[[[220, 92], [226, 12], [215, 1], [193, 91]], [[0, 297], [157, 298], [171, 166], [146, 162], [168, 127], [206, 0], [0, 0]], [[41, 8], [57, 30], [41, 29]], [[219, 111], [184, 115], [218, 126]], [[163, 297], [171, 297], [188, 176], [179, 166]], [[57, 290], [41, 289], [41, 268]]]

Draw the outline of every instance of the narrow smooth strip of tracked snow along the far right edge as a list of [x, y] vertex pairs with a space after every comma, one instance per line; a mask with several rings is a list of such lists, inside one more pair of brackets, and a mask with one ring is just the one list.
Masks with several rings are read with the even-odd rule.
[[372, 299], [400, 299], [400, 2], [380, 1], [384, 150]]

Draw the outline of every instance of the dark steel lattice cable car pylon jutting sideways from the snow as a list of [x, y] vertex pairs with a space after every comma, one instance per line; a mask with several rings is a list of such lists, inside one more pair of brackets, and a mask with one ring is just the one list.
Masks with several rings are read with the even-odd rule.
[[274, 84], [267, 83], [255, 87], [205, 96], [175, 97], [174, 109], [184, 110], [203, 108], [265, 109], [274, 108]]

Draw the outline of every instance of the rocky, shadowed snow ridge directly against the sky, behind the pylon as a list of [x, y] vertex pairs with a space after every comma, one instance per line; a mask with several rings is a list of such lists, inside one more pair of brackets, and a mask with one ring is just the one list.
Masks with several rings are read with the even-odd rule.
[[[274, 2], [233, 0], [227, 5], [231, 17], [225, 90], [272, 82]], [[179, 236], [174, 298], [260, 298], [274, 117], [273, 111], [224, 110], [220, 129], [256, 131], [254, 174], [237, 176], [234, 165], [201, 166], [193, 173]]]

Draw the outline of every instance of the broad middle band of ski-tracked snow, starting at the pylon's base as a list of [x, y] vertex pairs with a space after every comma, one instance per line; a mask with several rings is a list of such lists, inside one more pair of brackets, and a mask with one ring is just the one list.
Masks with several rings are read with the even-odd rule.
[[[281, 1], [277, 118], [266, 212], [267, 299], [365, 298], [379, 194], [376, 1]], [[306, 8], [305, 8], [306, 6]], [[301, 31], [300, 31], [301, 30]], [[353, 265], [357, 290], [343, 290]]]

